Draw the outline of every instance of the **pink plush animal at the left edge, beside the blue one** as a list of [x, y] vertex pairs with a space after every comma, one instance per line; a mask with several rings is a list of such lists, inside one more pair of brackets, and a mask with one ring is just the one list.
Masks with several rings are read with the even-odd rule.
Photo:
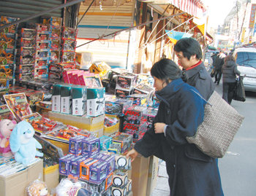
[[0, 121], [0, 152], [4, 157], [12, 156], [12, 151], [10, 149], [10, 135], [12, 129], [15, 128], [17, 122], [10, 119], [2, 119]]

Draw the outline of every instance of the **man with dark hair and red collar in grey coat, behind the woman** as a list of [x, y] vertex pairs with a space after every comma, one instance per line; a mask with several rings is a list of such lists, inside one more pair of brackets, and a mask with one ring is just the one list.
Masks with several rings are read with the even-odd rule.
[[187, 83], [195, 87], [208, 100], [214, 92], [214, 82], [203, 64], [202, 50], [199, 42], [192, 38], [178, 40], [174, 46], [178, 65], [182, 66]]

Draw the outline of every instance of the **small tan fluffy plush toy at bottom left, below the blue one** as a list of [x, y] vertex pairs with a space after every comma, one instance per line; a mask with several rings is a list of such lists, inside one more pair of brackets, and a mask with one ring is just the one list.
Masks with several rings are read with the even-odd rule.
[[26, 193], [28, 196], [50, 196], [45, 182], [38, 179], [29, 184]]

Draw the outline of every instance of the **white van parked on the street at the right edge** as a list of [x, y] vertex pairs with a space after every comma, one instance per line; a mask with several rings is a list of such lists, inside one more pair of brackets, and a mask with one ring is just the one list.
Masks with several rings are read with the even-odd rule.
[[241, 47], [233, 52], [241, 76], [244, 76], [244, 89], [256, 92], [256, 48]]

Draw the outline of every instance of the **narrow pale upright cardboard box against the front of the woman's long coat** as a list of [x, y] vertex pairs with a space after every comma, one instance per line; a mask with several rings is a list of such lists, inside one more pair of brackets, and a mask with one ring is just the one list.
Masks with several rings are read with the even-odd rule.
[[155, 156], [150, 157], [149, 167], [148, 167], [148, 185], [147, 185], [146, 196], [150, 196], [157, 185], [158, 163], [159, 163], [159, 158]]

